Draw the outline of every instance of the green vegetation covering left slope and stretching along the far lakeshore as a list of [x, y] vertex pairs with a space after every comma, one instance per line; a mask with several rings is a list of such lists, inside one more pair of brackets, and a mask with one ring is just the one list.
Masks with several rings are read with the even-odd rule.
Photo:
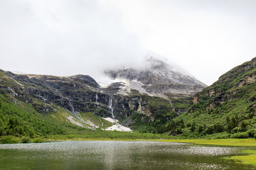
[[[38, 102], [38, 101], [37, 101]], [[17, 104], [16, 104], [17, 103]], [[100, 128], [90, 130], [73, 125], [66, 121], [71, 116], [67, 111], [53, 106], [55, 112], [48, 115], [38, 113], [31, 104], [9, 101], [0, 95], [0, 143], [27, 143], [43, 142], [46, 140], [78, 140], [78, 139], [110, 139], [110, 140], [135, 140], [135, 139], [170, 139], [169, 135], [105, 131], [112, 123], [100, 118], [93, 113], [81, 113], [82, 118], [90, 120]]]

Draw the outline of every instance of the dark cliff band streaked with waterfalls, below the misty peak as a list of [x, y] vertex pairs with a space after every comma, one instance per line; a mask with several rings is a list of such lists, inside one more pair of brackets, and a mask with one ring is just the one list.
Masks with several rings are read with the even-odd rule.
[[[120, 83], [100, 89], [94, 79], [85, 75], [55, 77], [20, 75], [4, 71], [2, 73], [10, 82], [8, 86], [4, 86], [1, 82], [6, 84], [6, 80], [0, 79], [1, 94], [11, 94], [21, 101], [31, 103], [39, 113], [54, 112], [51, 104], [55, 104], [73, 114], [76, 112], [93, 112], [103, 118], [112, 118], [112, 111], [109, 108], [111, 95], [114, 118], [118, 120], [129, 117], [134, 111], [146, 115], [152, 121], [156, 115], [152, 112], [148, 101], [154, 97], [147, 96], [145, 98], [137, 91], [134, 91], [132, 96], [117, 94], [119, 86], [123, 86]], [[43, 101], [44, 104], [38, 104], [36, 101]]]

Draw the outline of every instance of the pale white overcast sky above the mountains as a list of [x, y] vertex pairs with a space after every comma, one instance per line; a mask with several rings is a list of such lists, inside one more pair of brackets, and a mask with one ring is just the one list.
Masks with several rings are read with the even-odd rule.
[[256, 57], [255, 0], [0, 0], [0, 69], [89, 74], [148, 51], [210, 85]]

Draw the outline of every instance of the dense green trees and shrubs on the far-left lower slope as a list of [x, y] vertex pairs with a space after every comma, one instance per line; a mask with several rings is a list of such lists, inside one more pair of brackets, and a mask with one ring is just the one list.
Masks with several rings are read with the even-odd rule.
[[6, 101], [6, 98], [0, 95], [0, 136], [14, 135], [33, 138], [37, 135], [66, 133], [61, 125], [56, 125], [47, 117], [48, 115], [38, 113], [26, 103], [23, 103], [23, 106], [18, 106], [11, 101]]

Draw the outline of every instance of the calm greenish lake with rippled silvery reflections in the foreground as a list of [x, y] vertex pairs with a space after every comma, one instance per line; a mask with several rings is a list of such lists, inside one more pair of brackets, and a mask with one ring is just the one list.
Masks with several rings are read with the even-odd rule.
[[236, 147], [171, 142], [64, 141], [0, 145], [0, 169], [255, 169], [222, 159]]

